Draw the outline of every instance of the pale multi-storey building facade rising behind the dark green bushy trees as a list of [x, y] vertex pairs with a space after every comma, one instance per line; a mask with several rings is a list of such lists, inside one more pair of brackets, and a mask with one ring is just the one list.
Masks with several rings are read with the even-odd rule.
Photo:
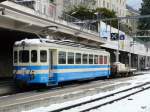
[[126, 0], [63, 0], [64, 9], [72, 6], [85, 5], [92, 9], [107, 8], [116, 12], [117, 16], [126, 16]]

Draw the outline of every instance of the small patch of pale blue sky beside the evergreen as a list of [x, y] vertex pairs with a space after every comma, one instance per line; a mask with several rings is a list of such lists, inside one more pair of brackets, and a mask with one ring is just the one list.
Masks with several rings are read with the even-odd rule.
[[142, 0], [127, 0], [127, 4], [133, 7], [134, 9], [140, 8]]

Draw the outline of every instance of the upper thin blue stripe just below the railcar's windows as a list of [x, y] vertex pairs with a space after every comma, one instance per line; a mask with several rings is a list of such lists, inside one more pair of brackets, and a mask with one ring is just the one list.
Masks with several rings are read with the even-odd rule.
[[[110, 65], [54, 65], [53, 69], [110, 68]], [[15, 70], [47, 70], [49, 66], [14, 66]]]

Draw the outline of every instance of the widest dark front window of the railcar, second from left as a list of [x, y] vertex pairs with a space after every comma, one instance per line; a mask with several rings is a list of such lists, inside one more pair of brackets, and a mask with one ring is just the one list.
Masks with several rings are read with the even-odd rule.
[[21, 63], [29, 62], [29, 51], [28, 50], [19, 51], [19, 62], [21, 62]]

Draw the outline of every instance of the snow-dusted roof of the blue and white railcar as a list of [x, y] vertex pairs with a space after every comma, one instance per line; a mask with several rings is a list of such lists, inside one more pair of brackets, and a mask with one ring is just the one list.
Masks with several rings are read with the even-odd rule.
[[[49, 44], [57, 44], [57, 45], [65, 45], [65, 46], [71, 46], [71, 47], [80, 47], [85, 49], [92, 49], [92, 50], [101, 50], [105, 51], [104, 49], [97, 48], [95, 46], [90, 46], [86, 44], [77, 43], [71, 40], [50, 40], [50, 39], [23, 39], [21, 41], [16, 41], [15, 46], [22, 46], [25, 45], [44, 45], [49, 46]], [[106, 52], [106, 51], [105, 51]]]

